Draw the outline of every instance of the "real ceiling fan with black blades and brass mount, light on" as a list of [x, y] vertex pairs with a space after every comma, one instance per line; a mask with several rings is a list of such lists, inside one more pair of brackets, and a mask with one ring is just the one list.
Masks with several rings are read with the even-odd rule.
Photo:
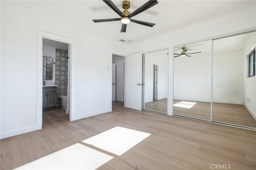
[[135, 22], [137, 24], [142, 24], [144, 26], [153, 27], [156, 24], [150, 23], [150, 22], [144, 22], [139, 20], [133, 20], [131, 19], [133, 16], [136, 16], [137, 14], [140, 14], [141, 12], [147, 10], [148, 8], [151, 8], [152, 6], [158, 4], [157, 0], [149, 0], [144, 5], [142, 5], [140, 8], [135, 10], [134, 12], [130, 13], [127, 9], [130, 8], [130, 2], [128, 0], [125, 0], [122, 2], [122, 8], [124, 8], [124, 11], [121, 12], [115, 4], [111, 0], [103, 0], [114, 12], [116, 12], [121, 18], [110, 18], [110, 19], [100, 19], [100, 20], [93, 20], [93, 22], [109, 22], [109, 21], [120, 21], [122, 22], [122, 28], [121, 32], [126, 32], [126, 26], [130, 22]]

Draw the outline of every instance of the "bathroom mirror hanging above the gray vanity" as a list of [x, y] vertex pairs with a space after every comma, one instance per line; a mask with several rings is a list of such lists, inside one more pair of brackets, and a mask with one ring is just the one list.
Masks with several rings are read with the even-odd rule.
[[52, 80], [52, 57], [43, 56], [43, 80]]

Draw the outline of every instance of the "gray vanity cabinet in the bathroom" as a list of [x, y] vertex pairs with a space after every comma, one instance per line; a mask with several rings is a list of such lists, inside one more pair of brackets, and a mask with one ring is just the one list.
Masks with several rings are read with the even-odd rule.
[[55, 109], [57, 105], [57, 87], [43, 87], [43, 111]]

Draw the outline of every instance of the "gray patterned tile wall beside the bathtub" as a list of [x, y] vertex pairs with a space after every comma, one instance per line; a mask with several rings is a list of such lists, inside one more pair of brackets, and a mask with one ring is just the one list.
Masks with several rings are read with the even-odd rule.
[[[55, 84], [57, 97], [68, 95], [68, 51], [56, 48]], [[57, 103], [58, 100], [57, 100]]]

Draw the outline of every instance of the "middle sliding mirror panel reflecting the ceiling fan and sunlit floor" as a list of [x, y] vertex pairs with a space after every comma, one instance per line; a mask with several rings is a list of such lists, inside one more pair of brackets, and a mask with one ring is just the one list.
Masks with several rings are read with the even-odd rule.
[[211, 121], [211, 53], [211, 40], [174, 48], [174, 115]]

